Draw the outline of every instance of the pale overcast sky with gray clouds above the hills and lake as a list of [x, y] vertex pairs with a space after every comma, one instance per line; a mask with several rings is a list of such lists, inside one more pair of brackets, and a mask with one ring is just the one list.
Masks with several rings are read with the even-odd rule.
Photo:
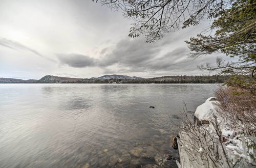
[[201, 75], [216, 59], [188, 58], [184, 42], [208, 20], [155, 43], [129, 38], [132, 20], [91, 0], [1, 0], [0, 20], [0, 77]]

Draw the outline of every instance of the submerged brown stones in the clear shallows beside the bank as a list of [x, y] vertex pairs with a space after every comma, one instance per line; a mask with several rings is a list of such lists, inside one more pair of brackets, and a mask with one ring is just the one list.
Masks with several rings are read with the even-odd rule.
[[82, 167], [178, 167], [178, 150], [170, 146], [171, 140], [171, 137], [162, 139], [154, 135], [151, 141], [153, 144], [140, 143], [131, 148], [124, 146], [118, 151], [92, 150], [91, 158]]

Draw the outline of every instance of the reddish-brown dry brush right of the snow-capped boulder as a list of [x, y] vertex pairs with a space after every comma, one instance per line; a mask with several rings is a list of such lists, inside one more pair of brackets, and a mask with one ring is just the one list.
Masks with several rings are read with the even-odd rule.
[[246, 130], [249, 134], [255, 134], [256, 130], [256, 95], [234, 93], [243, 92], [241, 89], [220, 87], [216, 91], [216, 97], [220, 104], [218, 111], [223, 119], [229, 120], [231, 128]]

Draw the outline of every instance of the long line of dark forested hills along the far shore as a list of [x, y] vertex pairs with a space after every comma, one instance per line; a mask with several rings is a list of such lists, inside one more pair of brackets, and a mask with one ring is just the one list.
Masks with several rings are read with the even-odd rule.
[[0, 78], [0, 83], [223, 83], [229, 76], [162, 76], [154, 78], [70, 78], [47, 75], [39, 80]]

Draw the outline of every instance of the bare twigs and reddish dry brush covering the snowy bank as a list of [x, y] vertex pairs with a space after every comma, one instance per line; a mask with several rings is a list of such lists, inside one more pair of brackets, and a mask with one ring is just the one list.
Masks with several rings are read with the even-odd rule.
[[[180, 138], [177, 139], [181, 161], [183, 165], [186, 164], [185, 167], [255, 166], [254, 159], [250, 161], [247, 156], [255, 158], [256, 96], [233, 93], [234, 89], [228, 87], [220, 87], [216, 91], [220, 103], [217, 104], [217, 113], [212, 111], [210, 114], [209, 124], [199, 125], [191, 122], [187, 109], [184, 109], [186, 120], [180, 127]], [[234, 132], [224, 135], [223, 128]], [[237, 145], [233, 139], [239, 139], [243, 145]], [[246, 145], [248, 139], [253, 146]], [[227, 150], [226, 145], [236, 146], [237, 150], [243, 146], [243, 150], [238, 150], [238, 153], [242, 153], [244, 157]], [[249, 148], [253, 148], [252, 153]]]

